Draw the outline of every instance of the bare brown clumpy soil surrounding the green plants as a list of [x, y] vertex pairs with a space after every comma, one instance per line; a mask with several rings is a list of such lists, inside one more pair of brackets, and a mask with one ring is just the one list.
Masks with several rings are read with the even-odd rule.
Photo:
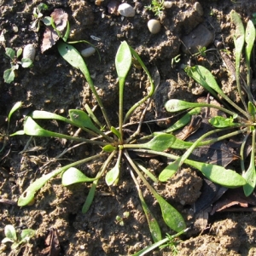
[[[256, 3], [251, 0], [199, 2], [203, 15], [195, 10], [193, 0], [172, 1], [172, 8], [165, 10], [161, 18], [161, 30], [155, 35], [148, 32], [147, 22], [154, 18], [152, 12], [144, 9], [150, 3], [148, 0], [135, 3], [127, 1], [136, 9], [136, 15], [132, 18], [109, 14], [109, 1], [96, 5], [94, 1], [49, 0], [44, 1], [49, 5], [49, 10], [44, 14], [50, 15], [54, 9], [65, 10], [71, 25], [70, 39], [83, 39], [96, 45], [101, 60], [98, 55], [92, 55], [85, 61], [111, 122], [117, 125], [119, 96], [114, 56], [124, 40], [136, 49], [150, 73], [155, 74], [155, 78], [159, 74], [160, 86], [154, 95], [151, 108], [148, 109], [146, 120], [171, 116], [164, 109], [165, 102], [170, 98], [195, 102], [199, 97], [207, 96], [183, 72], [182, 65], [189, 62], [200, 63], [211, 69], [217, 76], [218, 83], [222, 84], [234, 101], [239, 102], [213, 40], [223, 42], [225, 48], [232, 52], [234, 44], [231, 34], [234, 27], [230, 24], [230, 10], [235, 9], [247, 21], [256, 12]], [[67, 117], [70, 108], [84, 109], [85, 103], [91, 108], [96, 106], [96, 100], [83, 75], [61, 58], [55, 46], [44, 54], [41, 53], [40, 45], [45, 27], [42, 26], [39, 32], [31, 29], [32, 10], [38, 3], [41, 1], [0, 0], [0, 33], [5, 38], [5, 41], [0, 42], [2, 134], [7, 132], [5, 119], [15, 102], [22, 101], [27, 108], [15, 113], [9, 133], [22, 129], [23, 114], [31, 109], [60, 113]], [[183, 37], [193, 32], [199, 24], [207, 27], [213, 35], [211, 44], [207, 46], [207, 49], [212, 50], [204, 58], [193, 57], [182, 51]], [[91, 35], [100, 38], [100, 41], [93, 40]], [[9, 68], [9, 59], [4, 56], [5, 47], [19, 49], [26, 44], [33, 44], [37, 49], [33, 67], [20, 67], [15, 81], [11, 84], [4, 83], [3, 72]], [[88, 46], [78, 44], [77, 47], [81, 50]], [[172, 64], [172, 58], [179, 54], [181, 61]], [[141, 69], [132, 67], [125, 85], [125, 110], [128, 110], [146, 94], [147, 77]], [[137, 110], [130, 121], [137, 122], [142, 110], [143, 108]], [[96, 114], [101, 116], [98, 108]], [[47, 125], [55, 131], [73, 132], [70, 126], [58, 123]], [[150, 129], [160, 131], [166, 125], [166, 121], [159, 121], [150, 126]], [[143, 127], [143, 132], [148, 133], [148, 126]], [[29, 139], [25, 136], [10, 137], [7, 146], [0, 153], [2, 200], [16, 202], [28, 185], [38, 177], [55, 170], [56, 167], [97, 153], [95, 148], [84, 145], [64, 154], [61, 159], [56, 159], [58, 154], [71, 146], [70, 143], [54, 138]], [[26, 150], [23, 150], [25, 147]], [[162, 159], [143, 161], [156, 175], [159, 174], [161, 166], [166, 164]], [[232, 164], [239, 166], [239, 162]], [[82, 171], [93, 177], [98, 169], [99, 163], [81, 167]], [[183, 214], [189, 225], [195, 220], [193, 207], [201, 196], [202, 183], [203, 178], [199, 173], [184, 167], [171, 181], [155, 185], [155, 189]], [[160, 221], [162, 234], [174, 234], [161, 220], [160, 209], [154, 198], [146, 188], [142, 188], [148, 205]], [[39, 255], [46, 247], [44, 241], [52, 228], [58, 234], [61, 247], [59, 255], [131, 255], [153, 242], [137, 190], [126, 166], [123, 166], [117, 186], [108, 187], [102, 180], [92, 207], [83, 214], [81, 208], [89, 189], [89, 183], [63, 187], [61, 178], [57, 177], [39, 191], [32, 206], [18, 207], [16, 204], [0, 202], [0, 240], [3, 240], [5, 225], [13, 224], [18, 231], [28, 228], [37, 230], [37, 235], [21, 248], [19, 255]], [[124, 220], [124, 226], [120, 226], [115, 218], [118, 215], [123, 216], [124, 212], [130, 212], [130, 216]], [[177, 255], [256, 255], [255, 217], [252, 208], [246, 208], [241, 212], [215, 212], [212, 216], [201, 218], [202, 222], [205, 221], [199, 225], [204, 227], [203, 230], [193, 227], [187, 235], [182, 236], [177, 245]], [[1, 244], [0, 252], [1, 255], [12, 255], [9, 244]], [[171, 255], [171, 252], [166, 248], [162, 251], [155, 250], [152, 255]]]

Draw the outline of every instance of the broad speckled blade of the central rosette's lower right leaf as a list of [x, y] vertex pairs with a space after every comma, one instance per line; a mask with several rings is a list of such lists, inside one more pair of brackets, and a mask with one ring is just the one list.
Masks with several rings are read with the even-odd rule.
[[186, 228], [186, 223], [183, 216], [177, 212], [177, 210], [172, 207], [168, 202], [166, 202], [160, 195], [154, 195], [156, 201], [160, 204], [161, 212], [165, 223], [172, 230], [179, 232]]

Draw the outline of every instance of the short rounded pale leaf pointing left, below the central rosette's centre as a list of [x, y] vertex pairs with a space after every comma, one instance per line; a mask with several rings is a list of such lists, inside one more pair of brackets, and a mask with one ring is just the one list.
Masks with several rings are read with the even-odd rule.
[[87, 177], [83, 172], [79, 171], [79, 169], [71, 167], [62, 173], [61, 183], [63, 186], [69, 186], [73, 183], [87, 183], [96, 179], [95, 177]]

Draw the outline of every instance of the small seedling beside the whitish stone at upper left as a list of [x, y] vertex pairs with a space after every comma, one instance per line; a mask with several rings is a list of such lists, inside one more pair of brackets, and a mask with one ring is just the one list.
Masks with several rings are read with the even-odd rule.
[[15, 72], [21, 67], [32, 67], [32, 60], [29, 58], [22, 58], [19, 61], [19, 57], [22, 54], [22, 49], [18, 49], [16, 52], [14, 49], [5, 48], [5, 55], [10, 59], [10, 68], [3, 72], [4, 82], [10, 84], [15, 79]]

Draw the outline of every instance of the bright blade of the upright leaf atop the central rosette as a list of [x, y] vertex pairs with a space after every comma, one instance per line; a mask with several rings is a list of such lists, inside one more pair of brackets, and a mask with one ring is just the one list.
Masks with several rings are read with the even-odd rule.
[[119, 79], [125, 79], [131, 67], [131, 50], [129, 45], [124, 41], [119, 45], [115, 56], [115, 68]]

